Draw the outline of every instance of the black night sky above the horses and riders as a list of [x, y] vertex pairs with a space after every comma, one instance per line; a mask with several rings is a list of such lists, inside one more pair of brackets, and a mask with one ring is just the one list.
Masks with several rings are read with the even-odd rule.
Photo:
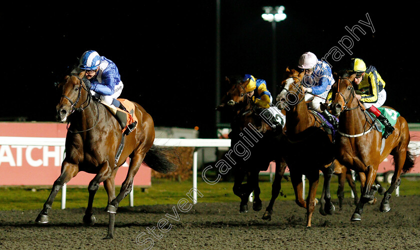
[[[117, 65], [124, 83], [120, 97], [141, 104], [156, 126], [198, 126], [200, 137], [215, 136], [215, 0], [72, 4], [19, 4], [0, 10], [1, 120], [23, 116], [53, 121], [59, 98], [53, 83], [85, 50], [93, 49]], [[349, 36], [345, 26], [357, 24], [365, 34], [352, 39], [352, 54], [328, 60], [332, 70], [342, 69], [352, 57], [374, 65], [386, 83], [385, 105], [408, 122], [420, 122], [415, 101], [418, 16], [403, 7], [221, 0], [221, 92], [225, 76], [245, 73], [265, 79], [272, 88], [273, 32], [271, 23], [261, 18], [264, 5], [284, 5], [287, 14], [276, 25], [277, 82], [286, 66], [296, 67], [303, 52], [318, 58], [334, 46], [345, 52], [338, 41]], [[366, 13], [374, 33], [358, 22], [367, 21]]]

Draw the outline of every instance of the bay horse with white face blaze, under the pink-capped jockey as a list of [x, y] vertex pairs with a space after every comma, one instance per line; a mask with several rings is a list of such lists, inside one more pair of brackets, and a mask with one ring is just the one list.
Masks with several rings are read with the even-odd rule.
[[[340, 174], [340, 189], [342, 190], [345, 176], [350, 186], [353, 184], [355, 198], [356, 191], [351, 173], [343, 165], [334, 160], [334, 150], [332, 136], [328, 134], [322, 122], [311, 111], [308, 110], [304, 101], [304, 91], [302, 88], [302, 77], [304, 72], [286, 68], [284, 80], [281, 82], [281, 90], [276, 96], [276, 106], [286, 110], [286, 136], [290, 141], [300, 140], [299, 147], [288, 146], [286, 153], [286, 163], [290, 170], [290, 178], [294, 188], [296, 203], [306, 208], [307, 227], [311, 226], [311, 217], [316, 204], [316, 189], [319, 179], [319, 170], [324, 176], [322, 196], [320, 200], [319, 212], [322, 215], [332, 214], [335, 210], [331, 202], [329, 182], [333, 173]], [[305, 137], [306, 136], [306, 137]], [[292, 143], [291, 145], [294, 145]], [[303, 146], [304, 145], [304, 146]], [[302, 196], [302, 175], [309, 181], [309, 193], [306, 201]], [[338, 195], [340, 205], [342, 195]]]

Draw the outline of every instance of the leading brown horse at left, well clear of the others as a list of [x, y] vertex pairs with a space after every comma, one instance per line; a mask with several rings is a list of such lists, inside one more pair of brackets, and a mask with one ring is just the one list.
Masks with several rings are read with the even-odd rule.
[[[103, 181], [108, 194], [109, 225], [106, 238], [113, 237], [113, 226], [116, 209], [119, 202], [131, 191], [133, 177], [141, 163], [158, 172], [169, 172], [176, 169], [176, 164], [168, 160], [173, 153], [171, 148], [153, 145], [154, 125], [151, 116], [137, 103], [134, 114], [138, 119], [137, 127], [124, 140], [123, 150], [118, 160], [116, 151], [120, 144], [121, 126], [111, 112], [102, 104], [92, 99], [81, 77], [84, 71], [64, 77], [58, 84], [61, 97], [56, 106], [56, 119], [60, 122], [69, 121], [65, 138], [66, 155], [61, 164], [61, 174], [53, 183], [48, 199], [36, 218], [38, 223], [48, 222], [48, 210], [58, 190], [79, 171], [93, 173], [95, 176], [88, 185], [89, 199], [83, 216], [85, 224], [95, 222], [93, 216], [93, 197]], [[128, 173], [115, 196], [114, 178], [118, 167], [130, 157]], [[176, 157], [174, 157], [176, 160]]]

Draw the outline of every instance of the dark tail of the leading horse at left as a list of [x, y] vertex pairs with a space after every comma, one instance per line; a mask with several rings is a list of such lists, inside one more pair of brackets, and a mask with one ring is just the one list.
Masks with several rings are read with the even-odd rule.
[[179, 162], [179, 154], [175, 148], [154, 144], [147, 151], [143, 159], [145, 165], [161, 173], [168, 173], [176, 170]]

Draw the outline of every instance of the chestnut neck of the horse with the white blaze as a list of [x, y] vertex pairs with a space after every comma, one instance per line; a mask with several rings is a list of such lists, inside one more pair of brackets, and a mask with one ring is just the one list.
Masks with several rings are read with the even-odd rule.
[[312, 116], [309, 114], [309, 110], [304, 101], [300, 101], [286, 112], [286, 127], [288, 134], [302, 132], [306, 128], [312, 126], [312, 123]]

